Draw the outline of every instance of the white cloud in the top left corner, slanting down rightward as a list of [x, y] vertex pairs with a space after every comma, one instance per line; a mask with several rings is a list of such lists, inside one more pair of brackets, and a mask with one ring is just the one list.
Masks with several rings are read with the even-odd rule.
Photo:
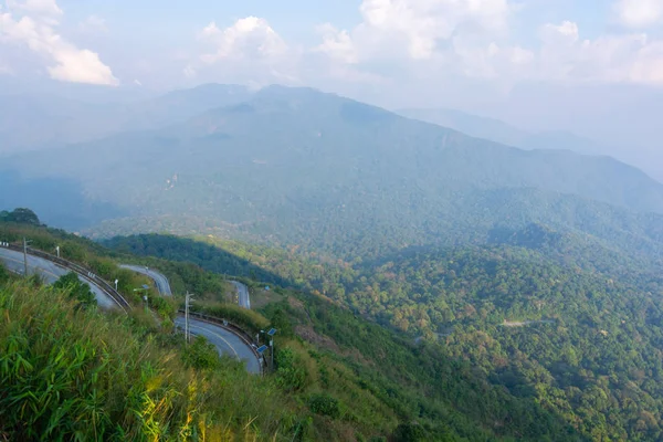
[[[108, 66], [98, 54], [81, 50], [66, 41], [55, 29], [62, 10], [53, 0], [7, 2], [8, 12], [0, 12], [0, 42], [25, 44], [31, 51], [49, 60], [49, 75], [62, 82], [117, 85]], [[22, 17], [14, 18], [19, 13]]]

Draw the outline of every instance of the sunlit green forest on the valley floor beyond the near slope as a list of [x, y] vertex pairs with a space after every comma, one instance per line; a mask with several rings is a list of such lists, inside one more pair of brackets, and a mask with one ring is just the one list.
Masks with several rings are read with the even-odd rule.
[[[188, 257], [204, 251], [201, 265], [217, 272], [250, 263], [271, 281], [285, 280], [435, 346], [439, 357], [466, 360], [587, 438], [663, 436], [659, 264], [537, 224], [491, 238], [485, 246], [411, 248], [351, 263], [211, 239], [223, 249], [215, 255], [208, 244], [178, 245], [172, 236], [114, 243], [149, 253], [155, 241], [171, 259], [182, 249]], [[325, 334], [338, 333], [338, 320], [326, 318], [333, 328]]]

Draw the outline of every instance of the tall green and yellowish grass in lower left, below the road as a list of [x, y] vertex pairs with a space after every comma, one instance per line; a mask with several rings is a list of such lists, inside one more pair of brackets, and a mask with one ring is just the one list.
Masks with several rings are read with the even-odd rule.
[[48, 287], [0, 287], [0, 440], [278, 441], [298, 428], [269, 379], [230, 360], [187, 368], [139, 317], [73, 307]]

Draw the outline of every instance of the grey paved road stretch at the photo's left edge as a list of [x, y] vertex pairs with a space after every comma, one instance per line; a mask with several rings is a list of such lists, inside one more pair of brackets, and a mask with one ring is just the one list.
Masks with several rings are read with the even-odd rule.
[[[23, 274], [23, 253], [13, 250], [0, 248], [0, 261], [4, 263], [4, 266], [12, 272]], [[28, 272], [30, 274], [38, 273], [49, 284], [53, 284], [60, 276], [66, 275], [70, 271], [61, 267], [60, 265], [52, 263], [43, 257], [28, 255]], [[78, 275], [78, 280], [90, 285], [92, 293], [96, 297], [97, 304], [102, 308], [116, 308], [117, 304], [110, 296], [108, 296], [103, 290], [91, 283], [83, 276]]]

